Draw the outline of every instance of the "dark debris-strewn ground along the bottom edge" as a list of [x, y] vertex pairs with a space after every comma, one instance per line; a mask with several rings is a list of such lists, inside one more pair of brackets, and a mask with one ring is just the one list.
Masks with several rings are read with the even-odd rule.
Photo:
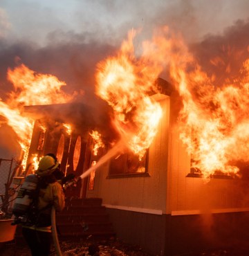
[[[93, 241], [60, 241], [60, 249], [63, 256], [159, 256], [149, 255], [142, 251], [139, 246], [125, 244], [118, 239], [109, 239], [98, 242]], [[0, 248], [1, 256], [31, 256], [26, 244], [16, 244], [11, 241]], [[167, 254], [166, 254], [167, 255]], [[199, 253], [186, 253], [174, 256], [248, 256], [249, 250], [243, 248], [215, 248], [201, 251]], [[50, 256], [56, 256], [54, 248]]]

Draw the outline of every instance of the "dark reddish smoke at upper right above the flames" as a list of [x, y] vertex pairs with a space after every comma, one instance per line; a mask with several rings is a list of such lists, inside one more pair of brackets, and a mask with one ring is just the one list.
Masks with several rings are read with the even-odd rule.
[[206, 35], [202, 42], [190, 46], [196, 60], [214, 84], [229, 84], [241, 75], [243, 62], [249, 57], [249, 21], [238, 20], [223, 35]]

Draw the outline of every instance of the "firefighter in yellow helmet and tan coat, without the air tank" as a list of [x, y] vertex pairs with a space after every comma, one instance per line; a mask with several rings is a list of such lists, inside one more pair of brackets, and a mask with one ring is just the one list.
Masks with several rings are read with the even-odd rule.
[[27, 214], [27, 220], [22, 224], [22, 234], [33, 256], [49, 255], [51, 236], [50, 213], [52, 206], [57, 212], [65, 207], [65, 196], [62, 188], [64, 173], [53, 154], [48, 154], [39, 161], [35, 174], [39, 177], [37, 196]]

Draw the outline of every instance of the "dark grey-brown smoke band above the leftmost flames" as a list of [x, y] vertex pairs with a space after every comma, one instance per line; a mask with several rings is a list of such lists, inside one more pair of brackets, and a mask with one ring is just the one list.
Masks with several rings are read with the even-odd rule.
[[44, 48], [37, 48], [34, 44], [26, 42], [11, 46], [0, 42], [0, 45], [1, 94], [11, 89], [6, 81], [7, 69], [15, 68], [21, 62], [37, 73], [52, 74], [65, 81], [66, 93], [83, 90], [84, 100], [89, 100], [88, 97], [94, 95], [95, 65], [115, 50], [113, 46], [97, 42], [59, 42]]

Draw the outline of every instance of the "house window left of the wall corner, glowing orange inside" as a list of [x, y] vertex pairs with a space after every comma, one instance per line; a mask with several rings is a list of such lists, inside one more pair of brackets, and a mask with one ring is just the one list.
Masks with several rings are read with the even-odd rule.
[[134, 154], [122, 154], [112, 158], [109, 165], [109, 178], [122, 178], [129, 176], [149, 176], [147, 172], [147, 162], [149, 151], [139, 161]]

